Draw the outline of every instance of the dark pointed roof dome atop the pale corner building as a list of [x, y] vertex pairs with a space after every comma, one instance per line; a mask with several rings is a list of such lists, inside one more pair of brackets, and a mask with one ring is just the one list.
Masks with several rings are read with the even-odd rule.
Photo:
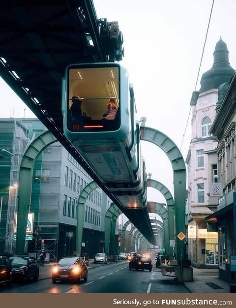
[[214, 63], [201, 79], [200, 92], [205, 92], [211, 89], [218, 89], [225, 82], [230, 81], [235, 70], [229, 63], [229, 51], [226, 43], [220, 37], [220, 40], [215, 45]]

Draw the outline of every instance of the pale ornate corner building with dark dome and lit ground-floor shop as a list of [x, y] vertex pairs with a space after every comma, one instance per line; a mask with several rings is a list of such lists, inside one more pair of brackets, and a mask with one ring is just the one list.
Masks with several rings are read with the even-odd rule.
[[[186, 158], [188, 165], [188, 254], [195, 267], [218, 267], [218, 237], [207, 232], [205, 217], [217, 210], [218, 197], [209, 196], [210, 183], [217, 183], [217, 140], [209, 132], [216, 116], [218, 88], [234, 74], [228, 49], [220, 38], [215, 46], [214, 62], [203, 74], [201, 89], [192, 111], [192, 138]], [[190, 230], [190, 229], [189, 229]]]

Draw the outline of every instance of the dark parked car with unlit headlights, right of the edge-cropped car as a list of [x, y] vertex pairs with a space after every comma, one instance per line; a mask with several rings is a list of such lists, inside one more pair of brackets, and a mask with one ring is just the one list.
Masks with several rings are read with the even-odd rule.
[[12, 265], [13, 279], [27, 282], [29, 279], [38, 280], [39, 265], [36, 259], [25, 255], [15, 255], [9, 258]]

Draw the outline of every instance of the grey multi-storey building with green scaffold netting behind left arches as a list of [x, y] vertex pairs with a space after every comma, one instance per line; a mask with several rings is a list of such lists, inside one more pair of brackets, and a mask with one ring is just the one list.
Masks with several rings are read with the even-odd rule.
[[[0, 119], [0, 253], [15, 250], [15, 213], [21, 159], [29, 143], [45, 131], [37, 119]], [[29, 212], [34, 215], [32, 240], [25, 249], [36, 255], [46, 247], [56, 260], [76, 250], [77, 200], [92, 179], [60, 144], [47, 147], [38, 157], [32, 181]], [[111, 200], [100, 187], [85, 204], [82, 253], [93, 257], [104, 251], [104, 217]], [[118, 233], [118, 232], [117, 232]], [[118, 234], [116, 236], [118, 241]], [[118, 250], [118, 247], [117, 247]]]

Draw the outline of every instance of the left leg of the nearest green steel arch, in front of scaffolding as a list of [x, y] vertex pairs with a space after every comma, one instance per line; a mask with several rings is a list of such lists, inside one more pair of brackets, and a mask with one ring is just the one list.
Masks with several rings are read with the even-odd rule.
[[44, 149], [57, 141], [50, 131], [43, 132], [31, 142], [22, 158], [18, 183], [16, 254], [24, 254], [35, 161]]

